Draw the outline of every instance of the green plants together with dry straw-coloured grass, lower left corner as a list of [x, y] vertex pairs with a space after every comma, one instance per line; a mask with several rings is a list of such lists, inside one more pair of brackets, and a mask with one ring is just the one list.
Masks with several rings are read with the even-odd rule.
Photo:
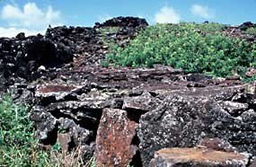
[[[38, 149], [33, 136], [28, 107], [16, 105], [9, 95], [0, 102], [0, 166], [2, 167], [76, 167], [83, 166], [81, 147], [70, 154], [61, 153], [60, 145], [53, 145], [49, 152]], [[85, 166], [94, 167], [95, 161]]]

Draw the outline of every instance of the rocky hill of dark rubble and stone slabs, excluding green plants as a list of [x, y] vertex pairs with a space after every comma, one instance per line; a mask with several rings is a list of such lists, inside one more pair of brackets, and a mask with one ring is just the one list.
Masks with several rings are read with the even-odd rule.
[[[249, 166], [256, 156], [255, 82], [163, 65], [101, 65], [108, 41], [126, 48], [147, 26], [117, 17], [93, 28], [2, 38], [0, 91], [31, 105], [40, 147], [81, 146], [84, 162], [94, 156], [98, 166]], [[255, 43], [243, 33], [251, 27], [226, 26], [224, 33]]]

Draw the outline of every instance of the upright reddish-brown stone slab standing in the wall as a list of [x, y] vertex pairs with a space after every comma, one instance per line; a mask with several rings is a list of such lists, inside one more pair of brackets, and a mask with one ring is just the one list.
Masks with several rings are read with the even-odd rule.
[[97, 166], [127, 166], [137, 152], [137, 147], [131, 145], [136, 127], [127, 111], [104, 109], [96, 137]]

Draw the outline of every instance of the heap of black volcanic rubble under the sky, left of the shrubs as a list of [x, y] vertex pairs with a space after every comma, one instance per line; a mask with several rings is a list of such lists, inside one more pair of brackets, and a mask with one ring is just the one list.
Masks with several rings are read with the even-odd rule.
[[[57, 68], [63, 71], [100, 65], [108, 52], [99, 32], [105, 28], [102, 25], [122, 26], [110, 36], [110, 40], [121, 46], [127, 45], [141, 28], [148, 25], [145, 19], [133, 17], [118, 17], [107, 22], [98, 28], [49, 27], [45, 36], [25, 37], [21, 32], [12, 39], [0, 38], [0, 75], [3, 77], [0, 89], [6, 90], [17, 77], [28, 82], [40, 77], [52, 80], [59, 74]], [[63, 66], [66, 67], [61, 68]]]

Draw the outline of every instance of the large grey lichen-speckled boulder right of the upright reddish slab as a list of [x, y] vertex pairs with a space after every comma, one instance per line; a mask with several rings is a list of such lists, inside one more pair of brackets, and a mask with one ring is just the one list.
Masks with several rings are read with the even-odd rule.
[[[137, 136], [144, 166], [148, 165], [157, 150], [192, 147], [203, 138], [212, 137], [224, 139], [237, 147], [239, 152], [256, 155], [256, 118], [251, 114], [255, 110], [247, 109], [245, 102], [246, 108], [239, 108], [241, 115], [233, 116], [217, 103], [233, 99], [244, 92], [244, 87], [223, 88], [221, 93], [217, 93], [218, 89], [207, 88], [207, 96], [202, 91], [204, 88], [199, 90], [172, 92], [158, 108], [142, 115]], [[251, 111], [244, 111], [249, 109]]]

